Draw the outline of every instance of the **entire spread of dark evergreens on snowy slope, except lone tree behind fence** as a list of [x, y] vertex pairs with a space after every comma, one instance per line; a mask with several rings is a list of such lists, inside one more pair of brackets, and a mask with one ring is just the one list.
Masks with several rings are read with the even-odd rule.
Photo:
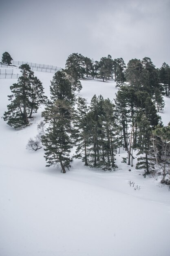
[[[46, 104], [40, 125], [43, 132], [30, 140], [29, 146], [33, 150], [44, 146], [47, 166], [60, 165], [65, 173], [74, 144], [74, 157], [81, 158], [86, 166], [115, 170], [115, 157], [123, 146], [129, 165], [133, 164], [132, 150], [138, 149], [136, 168], [148, 174], [157, 163], [162, 183], [170, 182], [170, 126], [164, 127], [157, 115], [164, 106], [162, 94], [169, 93], [166, 63], [158, 70], [145, 57], [130, 60], [126, 67], [122, 58], [113, 60], [110, 55], [93, 62], [81, 54], [71, 54], [66, 69], [53, 76], [49, 100], [29, 65], [21, 65], [20, 69], [22, 76], [11, 86], [11, 104], [4, 120], [14, 127], [28, 125], [33, 112]], [[84, 76], [103, 80], [114, 76], [119, 87], [115, 102], [94, 95], [87, 104], [86, 99], [75, 97], [82, 88], [79, 79]]]

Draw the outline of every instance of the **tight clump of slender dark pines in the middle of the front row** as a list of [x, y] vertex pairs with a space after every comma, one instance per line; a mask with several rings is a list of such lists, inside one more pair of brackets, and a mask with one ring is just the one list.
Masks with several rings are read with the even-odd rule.
[[118, 147], [119, 128], [115, 121], [114, 104], [100, 95], [93, 96], [87, 115], [90, 128], [88, 164], [104, 170], [116, 168], [115, 152]]

